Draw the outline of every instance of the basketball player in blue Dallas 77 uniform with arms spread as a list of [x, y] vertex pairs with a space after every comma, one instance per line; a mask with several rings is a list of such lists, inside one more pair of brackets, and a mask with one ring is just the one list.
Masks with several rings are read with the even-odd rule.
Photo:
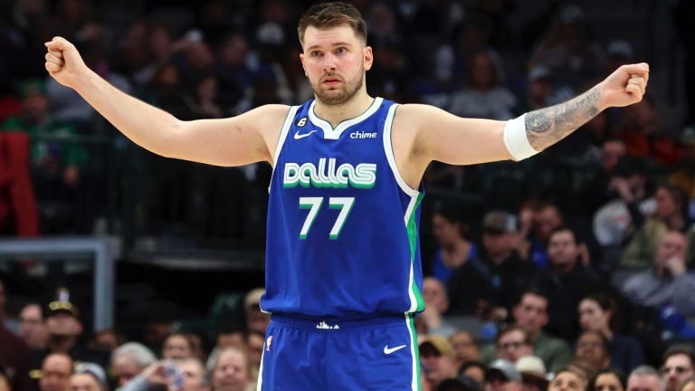
[[416, 390], [425, 167], [530, 157], [601, 110], [642, 100], [649, 67], [625, 65], [577, 98], [518, 119], [462, 119], [367, 94], [374, 57], [352, 5], [313, 5], [298, 30], [316, 99], [230, 119], [181, 121], [131, 98], [60, 37], [46, 43], [45, 67], [158, 155], [273, 167], [261, 301], [271, 325], [259, 389]]

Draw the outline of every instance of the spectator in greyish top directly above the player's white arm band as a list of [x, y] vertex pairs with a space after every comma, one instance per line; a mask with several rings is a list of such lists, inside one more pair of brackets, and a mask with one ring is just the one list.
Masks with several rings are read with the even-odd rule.
[[449, 111], [469, 118], [511, 119], [517, 106], [514, 95], [501, 85], [501, 65], [491, 52], [471, 58], [469, 88], [453, 94]]

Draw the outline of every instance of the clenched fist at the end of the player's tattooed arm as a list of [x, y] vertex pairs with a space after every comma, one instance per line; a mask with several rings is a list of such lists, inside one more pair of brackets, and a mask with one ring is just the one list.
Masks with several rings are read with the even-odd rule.
[[649, 64], [623, 65], [601, 81], [601, 98], [604, 107], [624, 107], [642, 100], [649, 81]]

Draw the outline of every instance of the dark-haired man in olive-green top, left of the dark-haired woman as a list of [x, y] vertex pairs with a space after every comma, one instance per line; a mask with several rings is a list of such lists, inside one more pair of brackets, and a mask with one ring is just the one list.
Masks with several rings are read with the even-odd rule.
[[549, 372], [557, 372], [569, 364], [572, 353], [565, 341], [543, 331], [548, 320], [547, 306], [548, 299], [544, 293], [530, 290], [520, 296], [512, 314], [519, 327], [527, 332], [533, 354], [543, 360]]

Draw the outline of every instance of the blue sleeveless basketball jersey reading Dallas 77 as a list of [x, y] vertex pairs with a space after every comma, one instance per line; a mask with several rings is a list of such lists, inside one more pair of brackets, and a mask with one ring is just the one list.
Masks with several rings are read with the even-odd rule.
[[262, 310], [331, 318], [424, 310], [424, 193], [395, 166], [397, 105], [376, 98], [333, 129], [314, 103], [290, 109], [275, 151]]

